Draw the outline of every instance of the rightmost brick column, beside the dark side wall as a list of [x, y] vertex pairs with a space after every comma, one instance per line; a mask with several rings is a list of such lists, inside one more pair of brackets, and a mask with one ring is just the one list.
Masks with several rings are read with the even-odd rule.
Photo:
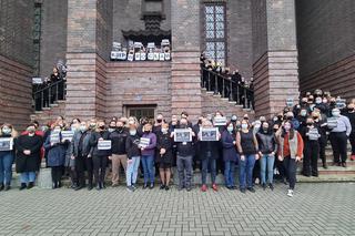
[[255, 113], [271, 116], [298, 99], [294, 0], [252, 1]]

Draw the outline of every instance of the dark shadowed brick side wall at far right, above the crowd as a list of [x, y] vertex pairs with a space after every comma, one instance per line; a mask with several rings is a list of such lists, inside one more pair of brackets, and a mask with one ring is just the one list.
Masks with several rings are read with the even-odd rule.
[[355, 1], [296, 1], [301, 91], [355, 96]]

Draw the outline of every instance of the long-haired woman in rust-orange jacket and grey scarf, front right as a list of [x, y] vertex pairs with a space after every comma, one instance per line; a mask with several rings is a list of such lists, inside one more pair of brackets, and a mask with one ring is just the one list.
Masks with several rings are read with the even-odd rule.
[[283, 161], [290, 187], [287, 196], [292, 197], [296, 184], [297, 162], [302, 160], [304, 143], [301, 134], [293, 127], [291, 121], [283, 125], [278, 135], [278, 161]]

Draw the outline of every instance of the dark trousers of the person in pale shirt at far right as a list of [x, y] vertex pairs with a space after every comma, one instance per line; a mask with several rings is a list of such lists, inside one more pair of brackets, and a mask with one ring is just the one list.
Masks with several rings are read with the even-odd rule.
[[332, 148], [333, 148], [333, 156], [334, 163], [343, 163], [346, 162], [347, 158], [347, 136], [345, 132], [331, 132], [329, 135]]

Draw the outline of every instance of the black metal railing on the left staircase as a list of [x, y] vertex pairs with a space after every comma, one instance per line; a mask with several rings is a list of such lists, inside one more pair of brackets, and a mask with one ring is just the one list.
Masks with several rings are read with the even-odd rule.
[[67, 83], [65, 80], [60, 80], [54, 83], [45, 85], [43, 89], [39, 89], [33, 92], [34, 109], [36, 111], [42, 111], [43, 107], [50, 107], [58, 100], [65, 100]]

